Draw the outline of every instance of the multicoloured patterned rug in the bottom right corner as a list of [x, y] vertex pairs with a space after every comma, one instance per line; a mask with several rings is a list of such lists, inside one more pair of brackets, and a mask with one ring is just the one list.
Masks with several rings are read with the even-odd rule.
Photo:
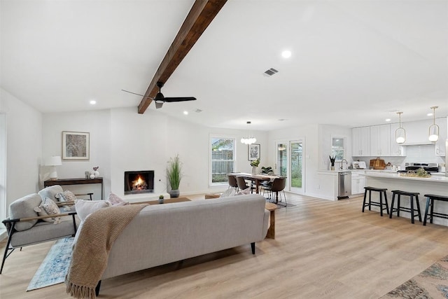
[[448, 298], [448, 256], [381, 297], [387, 298]]

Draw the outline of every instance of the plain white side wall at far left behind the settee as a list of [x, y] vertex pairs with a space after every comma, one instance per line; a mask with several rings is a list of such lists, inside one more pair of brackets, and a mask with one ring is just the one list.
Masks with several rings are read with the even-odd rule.
[[6, 115], [6, 207], [38, 191], [42, 153], [42, 114], [0, 88]]

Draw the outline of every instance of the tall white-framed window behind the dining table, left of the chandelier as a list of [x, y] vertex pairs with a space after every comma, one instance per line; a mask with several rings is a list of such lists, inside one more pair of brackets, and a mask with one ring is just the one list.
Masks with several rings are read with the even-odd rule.
[[235, 169], [235, 138], [211, 137], [211, 183], [227, 183]]

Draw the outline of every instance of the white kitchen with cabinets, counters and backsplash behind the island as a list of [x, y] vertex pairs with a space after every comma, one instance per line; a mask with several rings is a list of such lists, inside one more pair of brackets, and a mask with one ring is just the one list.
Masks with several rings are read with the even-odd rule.
[[[435, 142], [428, 140], [428, 128], [437, 124], [439, 138]], [[397, 144], [395, 130], [405, 128], [405, 142]], [[327, 200], [339, 200], [347, 197], [363, 195], [366, 186], [366, 173], [390, 172], [406, 170], [414, 163], [427, 164], [433, 176], [446, 176], [447, 169], [447, 118], [435, 120], [419, 120], [407, 123], [392, 123], [372, 125], [368, 127], [354, 127], [351, 140], [346, 138], [346, 146], [351, 147], [352, 156], [347, 162], [339, 159], [335, 162], [335, 170], [317, 171], [318, 196]], [[328, 155], [327, 155], [328, 157]], [[384, 165], [374, 167], [371, 161], [384, 161]], [[327, 158], [328, 159], [328, 158]], [[354, 163], [353, 163], [354, 162]], [[374, 169], [377, 168], [377, 169]], [[437, 171], [435, 171], [437, 170]], [[339, 173], [345, 174], [341, 178]], [[342, 188], [339, 188], [343, 179]], [[448, 179], [447, 179], [448, 180]], [[367, 179], [368, 183], [368, 179]], [[446, 185], [446, 184], [445, 184]], [[448, 195], [448, 185], [444, 186], [444, 195]], [[443, 195], [443, 194], [442, 194]]]

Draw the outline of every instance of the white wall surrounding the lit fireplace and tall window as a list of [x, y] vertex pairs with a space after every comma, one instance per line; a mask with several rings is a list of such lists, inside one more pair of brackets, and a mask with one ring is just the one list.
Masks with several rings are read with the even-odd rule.
[[[235, 170], [250, 172], [247, 146], [239, 139], [244, 130], [228, 130], [204, 127], [166, 116], [160, 111], [148, 109], [139, 114], [135, 107], [106, 111], [79, 113], [45, 113], [43, 120], [43, 157], [59, 155], [61, 132], [90, 132], [90, 161], [63, 161], [57, 167], [59, 178], [82, 177], [84, 171], [99, 166], [104, 177], [105, 197], [116, 193], [125, 200], [157, 197], [166, 193], [165, 169], [170, 157], [179, 153], [183, 162], [184, 177], [181, 195], [224, 190], [227, 186], [209, 186], [209, 136], [223, 134], [237, 139], [237, 163]], [[267, 159], [267, 133], [253, 132], [261, 147], [261, 160]], [[130, 170], [154, 170], [154, 193], [124, 195], [124, 172]], [[48, 176], [48, 169], [44, 176]], [[71, 190], [78, 190], [70, 186]], [[92, 188], [92, 186], [83, 186]], [[98, 199], [99, 190], [94, 190]]]

